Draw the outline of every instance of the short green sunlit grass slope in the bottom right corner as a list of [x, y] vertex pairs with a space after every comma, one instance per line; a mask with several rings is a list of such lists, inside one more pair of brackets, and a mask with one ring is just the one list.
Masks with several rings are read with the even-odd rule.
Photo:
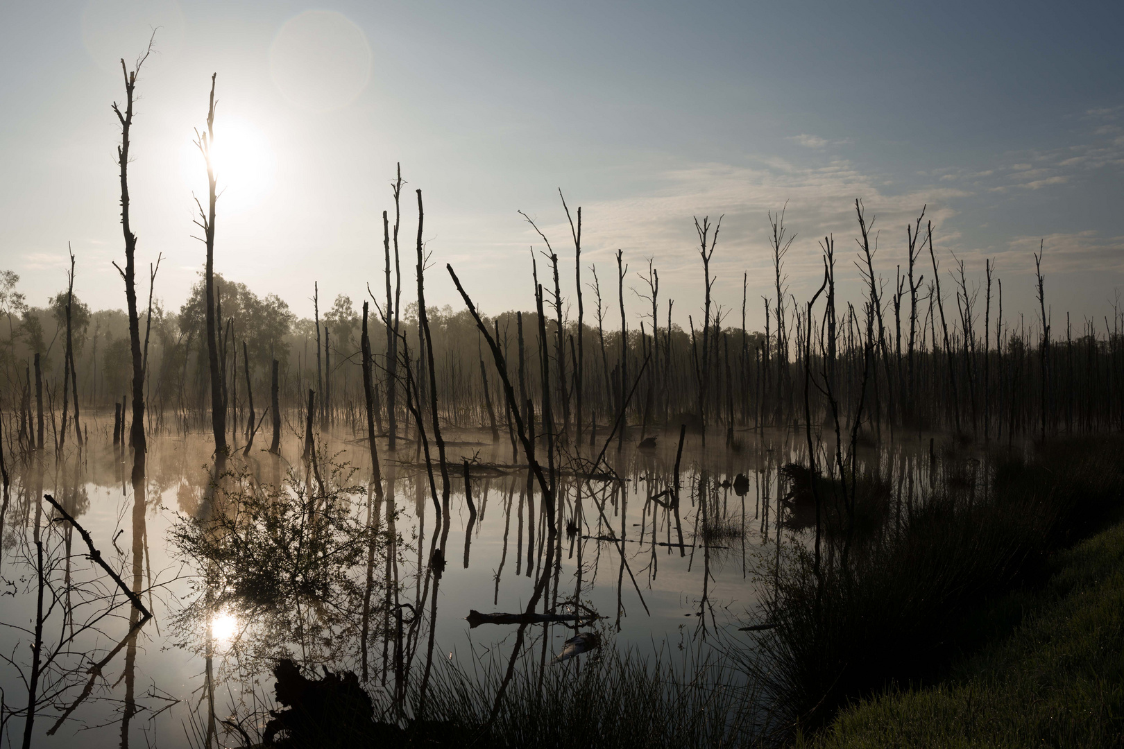
[[950, 678], [851, 706], [796, 746], [1124, 746], [1124, 524], [1051, 568], [1044, 588], [992, 606], [992, 620], [1022, 613], [1021, 623]]

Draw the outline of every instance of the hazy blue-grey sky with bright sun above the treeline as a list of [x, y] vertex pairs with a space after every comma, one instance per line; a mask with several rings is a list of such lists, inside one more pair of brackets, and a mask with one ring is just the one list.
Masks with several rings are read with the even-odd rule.
[[418, 189], [427, 301], [454, 309], [445, 263], [486, 312], [534, 307], [529, 248], [545, 245], [522, 210], [575, 317], [560, 190], [582, 207], [582, 285], [596, 265], [607, 304], [623, 250], [629, 327], [649, 259], [661, 316], [668, 299], [680, 325], [701, 316], [695, 217], [723, 217], [711, 271], [727, 323], [744, 277], [747, 326], [763, 327], [770, 211], [796, 235], [790, 292], [819, 285], [831, 236], [853, 298], [855, 199], [887, 292], [923, 207], [946, 294], [957, 258], [970, 285], [991, 258], [1005, 316], [1031, 319], [1040, 243], [1055, 327], [1063, 311], [1112, 316], [1124, 286], [1124, 3], [89, 0], [0, 6], [0, 270], [33, 304], [65, 287], [70, 246], [75, 293], [124, 307], [110, 104], [119, 60], [132, 68], [154, 28], [132, 220], [138, 267], [164, 258], [155, 295], [171, 311], [205, 259], [192, 139], [212, 73], [216, 271], [301, 317], [314, 282], [321, 307], [382, 287], [397, 163], [407, 301]]

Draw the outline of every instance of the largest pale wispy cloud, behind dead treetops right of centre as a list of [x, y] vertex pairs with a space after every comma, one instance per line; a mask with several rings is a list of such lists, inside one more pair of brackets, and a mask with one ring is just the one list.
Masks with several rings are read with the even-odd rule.
[[[700, 273], [695, 217], [709, 216], [715, 222], [723, 216], [711, 271], [718, 278], [716, 293], [724, 291], [728, 300], [731, 294], [741, 295], [743, 272], [749, 274], [751, 290], [755, 284], [767, 286], [772, 277], [770, 212], [783, 210], [789, 231], [797, 235], [786, 272], [799, 283], [823, 272], [818, 241], [824, 237], [834, 236], [840, 257], [850, 257], [852, 238], [859, 232], [855, 199], [863, 201], [876, 239], [904, 246], [906, 225], [926, 204], [926, 218], [941, 240], [957, 240], [959, 234], [943, 227], [955, 214], [952, 201], [971, 194], [936, 185], [891, 194], [880, 179], [841, 159], [819, 166], [764, 159], [743, 165], [699, 163], [667, 170], [653, 182], [659, 186], [646, 194], [584, 207], [583, 257], [588, 253], [599, 265], [613, 263], [618, 247], [634, 263], [653, 257], [661, 278], [671, 286], [668, 293], [687, 300], [696, 295]], [[569, 227], [560, 223], [547, 231], [566, 236]], [[879, 234], [885, 236], [879, 238]], [[528, 235], [528, 241], [534, 239]], [[844, 278], [853, 273], [849, 259], [839, 267]]]

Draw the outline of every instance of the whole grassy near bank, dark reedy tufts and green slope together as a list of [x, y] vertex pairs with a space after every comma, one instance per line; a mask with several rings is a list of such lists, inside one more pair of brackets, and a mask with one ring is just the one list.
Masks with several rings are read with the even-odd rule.
[[441, 736], [410, 746], [1124, 746], [1124, 527], [1075, 547], [1120, 518], [1124, 440], [989, 471], [986, 493], [939, 486], [900, 526], [887, 486], [861, 478], [856, 518], [883, 522], [862, 523], [845, 563], [830, 533], [822, 577], [787, 545], [776, 628], [720, 655], [673, 668], [607, 646], [542, 669], [533, 645], [487, 729], [505, 661], [438, 658], [425, 720]]

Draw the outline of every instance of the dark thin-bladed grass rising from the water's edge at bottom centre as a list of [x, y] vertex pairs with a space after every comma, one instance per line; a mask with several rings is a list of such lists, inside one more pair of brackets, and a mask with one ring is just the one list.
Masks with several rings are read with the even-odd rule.
[[[590, 658], [547, 665], [532, 656], [516, 669], [496, 722], [487, 722], [504, 664], [477, 659], [475, 673], [447, 661], [435, 672], [426, 718], [460, 727], [459, 747], [746, 746], [756, 716], [752, 687], [709, 658], [672, 668], [602, 648]], [[685, 676], [686, 674], [686, 676]], [[540, 682], [542, 676], [542, 682]], [[451, 745], [452, 746], [452, 745]]]

